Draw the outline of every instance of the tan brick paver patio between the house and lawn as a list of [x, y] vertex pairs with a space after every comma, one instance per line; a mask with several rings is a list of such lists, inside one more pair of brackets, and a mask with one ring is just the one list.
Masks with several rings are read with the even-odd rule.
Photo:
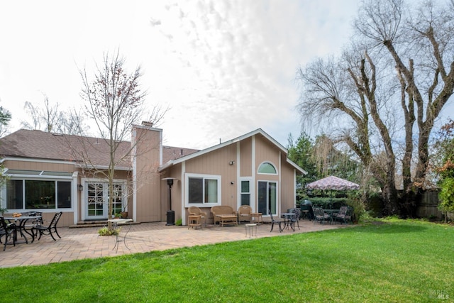
[[[321, 231], [331, 228], [345, 227], [337, 225], [314, 224], [312, 221], [299, 221], [300, 230], [296, 228], [279, 233], [279, 228], [270, 233], [270, 224], [257, 226], [257, 238], [270, 236], [287, 236], [293, 233]], [[123, 226], [121, 235], [127, 231], [128, 226]], [[35, 240], [28, 244], [21, 243], [16, 246], [8, 245], [3, 251], [0, 249], [0, 268], [22, 265], [43, 265], [55, 262], [80, 260], [84, 258], [99, 258], [123, 255], [128, 253], [145, 253], [151, 250], [167, 250], [189, 246], [221, 243], [226, 241], [247, 241], [245, 225], [238, 226], [204, 226], [202, 229], [188, 229], [187, 226], [166, 226], [165, 222], [143, 223], [131, 225], [125, 243], [119, 242], [118, 251], [113, 250], [115, 236], [98, 236], [99, 227], [87, 228], [58, 228], [62, 238], [53, 241], [50, 236], [43, 236], [40, 241]], [[253, 237], [255, 238], [255, 237]], [[2, 241], [4, 238], [2, 238]], [[21, 241], [21, 238], [18, 238]]]

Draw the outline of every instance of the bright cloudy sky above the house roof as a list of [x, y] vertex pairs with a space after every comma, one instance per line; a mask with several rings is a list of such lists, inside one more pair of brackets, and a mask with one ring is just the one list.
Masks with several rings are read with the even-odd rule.
[[147, 105], [169, 106], [165, 145], [207, 148], [262, 128], [301, 131], [297, 68], [336, 55], [360, 0], [2, 1], [0, 105], [80, 106], [79, 70], [120, 50]]

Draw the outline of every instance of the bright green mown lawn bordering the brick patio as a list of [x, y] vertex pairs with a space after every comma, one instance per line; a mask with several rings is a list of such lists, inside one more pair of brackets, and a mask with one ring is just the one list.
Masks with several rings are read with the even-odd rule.
[[454, 298], [454, 228], [383, 221], [4, 268], [0, 281], [1, 302], [445, 302]]

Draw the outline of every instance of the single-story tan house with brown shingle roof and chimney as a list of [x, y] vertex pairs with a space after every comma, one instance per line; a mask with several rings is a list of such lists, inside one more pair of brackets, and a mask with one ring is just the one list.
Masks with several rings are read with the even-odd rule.
[[[111, 192], [114, 214], [127, 211], [138, 222], [166, 221], [172, 208], [186, 224], [189, 206], [211, 216], [221, 204], [279, 215], [295, 205], [296, 177], [306, 173], [262, 129], [205, 150], [164, 146], [162, 129], [145, 123], [131, 138], [118, 142]], [[61, 226], [108, 218], [104, 139], [19, 130], [0, 139], [0, 155], [9, 176], [0, 203], [8, 213], [33, 209], [50, 219], [62, 211]]]

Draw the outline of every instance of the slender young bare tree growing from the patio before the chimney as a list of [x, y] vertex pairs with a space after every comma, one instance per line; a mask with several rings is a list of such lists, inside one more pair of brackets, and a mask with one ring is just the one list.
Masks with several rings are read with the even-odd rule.
[[[81, 70], [83, 88], [81, 97], [87, 101], [86, 111], [89, 119], [99, 131], [101, 140], [109, 148], [109, 166], [106, 170], [96, 167], [93, 159], [82, 151], [85, 165], [94, 175], [102, 176], [109, 182], [109, 193], [114, 193], [114, 174], [116, 166], [131, 162], [130, 158], [136, 150], [140, 138], [135, 137], [128, 148], [123, 148], [123, 141], [131, 136], [131, 128], [144, 117], [144, 101], [146, 93], [139, 87], [140, 67], [128, 73], [125, 60], [117, 51], [114, 56], [104, 55], [100, 67], [94, 77], [89, 78], [86, 70]], [[155, 107], [145, 117], [154, 125], [159, 123], [165, 111]], [[109, 194], [108, 215], [113, 214], [113, 194]], [[111, 229], [111, 224], [109, 224]]]

